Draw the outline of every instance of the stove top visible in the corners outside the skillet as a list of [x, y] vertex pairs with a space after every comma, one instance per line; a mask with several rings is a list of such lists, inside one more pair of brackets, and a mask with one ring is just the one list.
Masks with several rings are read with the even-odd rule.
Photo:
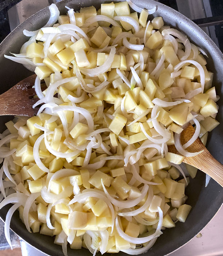
[[[16, 26], [38, 10], [60, 0], [0, 0], [0, 42]], [[85, 0], [87, 1], [87, 0]], [[156, 0], [178, 10], [193, 20], [208, 34], [223, 52], [223, 0]], [[22, 248], [24, 255], [43, 256], [10, 230], [13, 247]], [[199, 238], [198, 238], [199, 237]], [[223, 256], [223, 207], [201, 231], [185, 246], [169, 256]], [[8, 249], [4, 224], [0, 220], [0, 250]], [[1, 254], [1, 253], [0, 253]]]

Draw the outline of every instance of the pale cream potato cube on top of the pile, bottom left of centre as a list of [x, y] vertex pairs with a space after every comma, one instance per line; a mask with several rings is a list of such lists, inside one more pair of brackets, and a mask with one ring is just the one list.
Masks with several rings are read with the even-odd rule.
[[73, 211], [68, 215], [68, 224], [69, 229], [83, 229], [87, 225], [87, 213]]

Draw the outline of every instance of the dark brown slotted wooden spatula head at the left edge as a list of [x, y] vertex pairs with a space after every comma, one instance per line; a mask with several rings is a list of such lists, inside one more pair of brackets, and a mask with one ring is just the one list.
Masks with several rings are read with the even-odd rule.
[[29, 76], [11, 89], [0, 95], [0, 115], [20, 115], [33, 116], [38, 112], [38, 108], [33, 109], [34, 103], [39, 98], [33, 98], [36, 93], [32, 88], [36, 75]]

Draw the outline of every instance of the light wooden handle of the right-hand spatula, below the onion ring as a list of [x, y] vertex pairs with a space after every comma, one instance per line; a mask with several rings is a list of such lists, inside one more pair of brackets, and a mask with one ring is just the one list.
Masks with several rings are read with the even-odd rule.
[[223, 165], [206, 148], [199, 155], [186, 157], [183, 162], [205, 172], [223, 187]]

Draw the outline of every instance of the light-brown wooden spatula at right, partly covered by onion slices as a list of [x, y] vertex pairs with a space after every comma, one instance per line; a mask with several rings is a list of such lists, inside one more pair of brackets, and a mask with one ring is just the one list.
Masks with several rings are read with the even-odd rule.
[[[181, 144], [183, 145], [190, 140], [194, 132], [194, 127], [191, 124], [188, 125], [188, 127], [181, 133]], [[198, 152], [204, 150], [199, 155], [186, 157], [183, 162], [205, 172], [223, 187], [223, 165], [213, 158], [213, 156], [201, 142], [200, 138], [197, 138], [197, 140], [191, 146], [187, 147], [186, 150], [189, 152]], [[174, 145], [168, 146], [168, 151], [177, 153]]]

